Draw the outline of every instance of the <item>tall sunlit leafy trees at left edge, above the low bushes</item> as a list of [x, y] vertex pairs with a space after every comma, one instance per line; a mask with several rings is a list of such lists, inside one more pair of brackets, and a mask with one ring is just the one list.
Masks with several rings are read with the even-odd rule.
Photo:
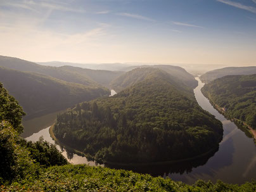
[[25, 113], [0, 84], [0, 184], [39, 174], [42, 167], [66, 165], [56, 146], [40, 139], [36, 143], [20, 137]]

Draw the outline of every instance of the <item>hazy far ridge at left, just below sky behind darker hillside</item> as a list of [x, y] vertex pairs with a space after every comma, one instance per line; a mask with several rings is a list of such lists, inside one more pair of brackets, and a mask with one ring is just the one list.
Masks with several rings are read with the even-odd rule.
[[[30, 61], [20, 60], [8, 56], [0, 56], [0, 67], [20, 70], [23, 72], [37, 72], [56, 79], [84, 84], [91, 87], [106, 86], [108, 82], [115, 79], [122, 72], [111, 72], [106, 70], [90, 70], [79, 67], [50, 67], [42, 66]], [[101, 86], [100, 86], [101, 85]]]

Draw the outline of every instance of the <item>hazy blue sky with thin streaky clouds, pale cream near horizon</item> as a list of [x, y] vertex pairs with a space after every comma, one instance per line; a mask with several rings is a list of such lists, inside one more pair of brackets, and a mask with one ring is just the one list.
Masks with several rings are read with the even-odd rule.
[[0, 54], [256, 65], [256, 0], [0, 0]]

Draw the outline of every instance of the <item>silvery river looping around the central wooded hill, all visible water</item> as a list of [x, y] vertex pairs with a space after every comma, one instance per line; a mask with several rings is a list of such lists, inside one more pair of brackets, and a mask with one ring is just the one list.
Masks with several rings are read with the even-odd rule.
[[[221, 120], [223, 124], [224, 136], [219, 144], [219, 149], [212, 151], [212, 153], [205, 155], [205, 157], [189, 162], [139, 167], [109, 167], [134, 170], [136, 172], [148, 173], [152, 176], [170, 177], [176, 181], [183, 181], [188, 184], [193, 184], [198, 179], [210, 180], [212, 182], [220, 179], [224, 182], [237, 184], [256, 179], [256, 146], [253, 139], [248, 138], [245, 132], [238, 129], [233, 122], [227, 120], [213, 108], [201, 92], [204, 84], [200, 79], [196, 78], [196, 80], [198, 80], [198, 87], [194, 89], [196, 101], [204, 110], [207, 110], [215, 115], [217, 119]], [[26, 136], [26, 139], [30, 141], [37, 141], [40, 136], [43, 136], [46, 141], [54, 143], [53, 139], [49, 136], [49, 125], [43, 127], [42, 124], [46, 124], [56, 118], [56, 113], [48, 115], [48, 118], [49, 120], [46, 117], [42, 117], [30, 120], [30, 122], [23, 122], [25, 127], [23, 136]], [[42, 120], [44, 121], [43, 123], [41, 122]], [[35, 125], [40, 125], [41, 128]], [[32, 127], [35, 129], [32, 129]], [[33, 130], [38, 129], [41, 129], [41, 131], [33, 132]], [[60, 146], [58, 146], [58, 149], [68, 158], [69, 162], [95, 165], [94, 162], [88, 162], [85, 157], [68, 153]]]

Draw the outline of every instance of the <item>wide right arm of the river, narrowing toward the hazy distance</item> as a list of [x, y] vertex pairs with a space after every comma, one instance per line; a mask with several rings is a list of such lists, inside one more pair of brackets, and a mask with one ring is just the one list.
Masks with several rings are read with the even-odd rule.
[[[221, 179], [224, 182], [241, 184], [251, 179], [256, 179], [256, 146], [253, 139], [246, 137], [236, 125], [215, 110], [201, 92], [203, 83], [198, 80], [198, 87], [194, 90], [198, 104], [204, 110], [215, 115], [221, 120], [224, 136], [219, 146], [219, 151], [211, 157], [205, 165], [193, 168], [187, 174], [171, 174], [169, 177], [189, 184], [197, 179], [213, 182]], [[249, 168], [248, 168], [249, 167]]]

